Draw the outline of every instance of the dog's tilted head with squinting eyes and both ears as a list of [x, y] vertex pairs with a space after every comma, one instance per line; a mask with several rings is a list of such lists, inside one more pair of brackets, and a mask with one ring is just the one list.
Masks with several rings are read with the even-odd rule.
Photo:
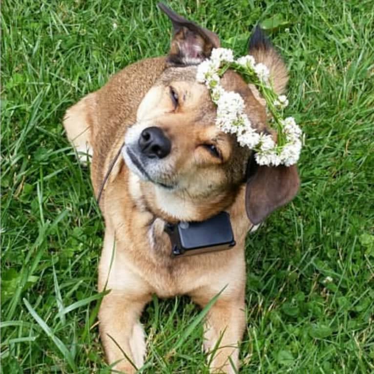
[[[249, 148], [217, 128], [216, 107], [206, 86], [196, 81], [196, 69], [219, 46], [219, 39], [163, 4], [159, 6], [173, 23], [174, 37], [166, 69], [145, 95], [137, 122], [126, 133], [125, 162], [149, 188], [162, 192], [164, 201], [178, 196], [179, 204], [200, 207], [193, 216], [181, 213], [183, 207], [167, 212], [177, 219], [202, 220], [228, 208], [246, 184], [247, 213], [257, 224], [294, 197], [299, 186], [296, 167], [257, 166]], [[259, 28], [251, 37], [249, 53], [269, 67], [280, 93], [288, 80], [287, 71]], [[221, 84], [241, 95], [251, 124], [268, 131], [265, 106], [255, 88], [230, 70]]]

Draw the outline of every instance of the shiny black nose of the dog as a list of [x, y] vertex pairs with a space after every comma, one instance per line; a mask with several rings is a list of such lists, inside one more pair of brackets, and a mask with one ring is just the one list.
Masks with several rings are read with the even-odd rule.
[[164, 158], [170, 153], [171, 142], [160, 127], [147, 127], [140, 134], [139, 146], [148, 158]]

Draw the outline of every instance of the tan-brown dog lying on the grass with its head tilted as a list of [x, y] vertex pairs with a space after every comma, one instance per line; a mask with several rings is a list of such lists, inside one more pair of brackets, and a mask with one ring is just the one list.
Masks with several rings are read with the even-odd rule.
[[[100, 334], [108, 362], [118, 361], [115, 369], [134, 373], [122, 351], [136, 367], [143, 365], [139, 317], [152, 294], [188, 294], [204, 307], [227, 286], [208, 312], [204, 349], [209, 352], [221, 339], [210, 370], [233, 373], [229, 357], [237, 369], [246, 324], [246, 233], [295, 196], [299, 178], [295, 166], [253, 168], [253, 158], [248, 174], [251, 151], [217, 129], [208, 89], [195, 79], [196, 64], [219, 46], [217, 35], [160, 7], [174, 28], [168, 56], [127, 66], [69, 108], [64, 119], [76, 150], [92, 155], [96, 195], [125, 137], [123, 157], [117, 159], [100, 201], [105, 237], [99, 290], [105, 285], [111, 290], [101, 305]], [[282, 92], [288, 80], [285, 65], [259, 29], [249, 53], [269, 67], [275, 90]], [[267, 115], [257, 90], [232, 71], [221, 83], [240, 93], [250, 122], [266, 131]], [[171, 256], [167, 222], [204, 221], [222, 210], [231, 217], [233, 249]]]

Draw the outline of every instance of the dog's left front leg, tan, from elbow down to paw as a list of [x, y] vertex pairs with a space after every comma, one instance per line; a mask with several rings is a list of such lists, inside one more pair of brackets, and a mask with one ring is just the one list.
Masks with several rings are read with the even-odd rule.
[[132, 374], [144, 364], [145, 337], [139, 317], [147, 301], [119, 291], [111, 291], [103, 299], [100, 336], [107, 362], [117, 362], [115, 370]]

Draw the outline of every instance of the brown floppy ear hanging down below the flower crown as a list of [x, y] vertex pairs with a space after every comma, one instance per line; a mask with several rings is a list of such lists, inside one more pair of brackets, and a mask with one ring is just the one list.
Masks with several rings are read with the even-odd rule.
[[274, 209], [290, 202], [299, 186], [300, 179], [295, 165], [256, 164], [246, 187], [246, 210], [249, 220], [254, 225], [262, 222]]

